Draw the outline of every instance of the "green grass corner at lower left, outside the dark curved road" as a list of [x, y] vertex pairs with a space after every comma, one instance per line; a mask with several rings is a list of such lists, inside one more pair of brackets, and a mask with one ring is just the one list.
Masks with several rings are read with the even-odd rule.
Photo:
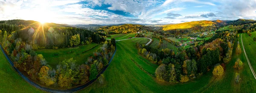
[[40, 93], [41, 90], [29, 85], [6, 60], [0, 50], [0, 93]]

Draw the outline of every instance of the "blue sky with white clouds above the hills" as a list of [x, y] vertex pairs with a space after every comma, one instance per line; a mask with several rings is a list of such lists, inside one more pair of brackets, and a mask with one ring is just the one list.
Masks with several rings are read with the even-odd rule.
[[256, 0], [0, 0], [0, 20], [171, 24], [256, 18]]

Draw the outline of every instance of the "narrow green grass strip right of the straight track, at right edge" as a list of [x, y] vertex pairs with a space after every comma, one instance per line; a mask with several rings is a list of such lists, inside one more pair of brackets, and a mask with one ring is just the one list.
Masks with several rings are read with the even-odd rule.
[[253, 41], [254, 37], [256, 37], [256, 32], [252, 32], [251, 37], [247, 33], [243, 33], [242, 35], [244, 49], [247, 53], [247, 57], [250, 60], [253, 70], [256, 71], [256, 41]]

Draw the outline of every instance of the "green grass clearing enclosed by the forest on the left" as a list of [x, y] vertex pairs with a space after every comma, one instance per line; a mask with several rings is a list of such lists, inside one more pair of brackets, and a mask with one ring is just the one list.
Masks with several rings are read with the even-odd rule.
[[[53, 68], [55, 68], [59, 62], [63, 61], [64, 59], [70, 59], [70, 58], [73, 58], [74, 60], [76, 60], [76, 63], [79, 65], [84, 64], [84, 62], [87, 60], [87, 57], [90, 57], [91, 55], [93, 55], [93, 52], [96, 52], [96, 50], [102, 45], [98, 45], [97, 47], [95, 46], [97, 46], [97, 44], [92, 43], [89, 45], [83, 45], [78, 47], [68, 47], [68, 48], [61, 48], [61, 49], [38, 49], [35, 52], [37, 54], [42, 54], [44, 58], [47, 60], [48, 64]], [[90, 49], [92, 47], [95, 47], [95, 48]], [[88, 49], [90, 50], [87, 52], [84, 52]], [[71, 53], [68, 53], [68, 52], [71, 52]]]

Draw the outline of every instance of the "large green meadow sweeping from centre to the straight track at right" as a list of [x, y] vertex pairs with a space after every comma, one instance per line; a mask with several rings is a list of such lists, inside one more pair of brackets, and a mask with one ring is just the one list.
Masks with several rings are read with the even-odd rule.
[[[237, 42], [237, 41], [236, 41]], [[130, 43], [117, 42], [117, 52], [112, 63], [104, 72], [105, 83], [99, 84], [94, 82], [84, 90], [79, 92], [91, 93], [116, 93], [116, 92], [139, 92], [139, 93], [255, 93], [256, 81], [247, 63], [244, 63], [244, 68], [235, 70], [233, 65], [238, 57], [245, 62], [243, 54], [236, 55], [235, 49], [237, 43], [234, 44], [233, 57], [230, 63], [226, 65], [226, 71], [221, 80], [216, 80], [212, 77], [212, 72], [197, 77], [186, 83], [171, 84], [158, 83], [154, 77], [149, 76], [141, 70], [132, 60], [127, 51], [131, 51], [123, 46]], [[131, 48], [131, 46], [130, 46]], [[132, 56], [137, 57], [137, 56]], [[141, 61], [141, 60], [137, 60]], [[241, 81], [236, 84], [235, 73], [239, 72]]]

